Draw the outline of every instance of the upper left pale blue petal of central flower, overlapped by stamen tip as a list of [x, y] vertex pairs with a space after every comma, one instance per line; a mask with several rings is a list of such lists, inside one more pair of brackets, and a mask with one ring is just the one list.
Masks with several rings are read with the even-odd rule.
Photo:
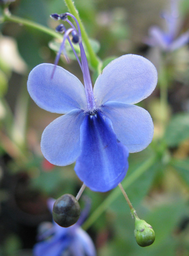
[[86, 96], [82, 83], [67, 70], [43, 63], [29, 74], [27, 90], [42, 109], [64, 114], [73, 109], [85, 109]]

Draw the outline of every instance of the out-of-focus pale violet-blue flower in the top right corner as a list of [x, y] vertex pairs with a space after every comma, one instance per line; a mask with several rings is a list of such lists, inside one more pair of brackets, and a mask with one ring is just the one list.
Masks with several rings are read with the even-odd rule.
[[170, 13], [162, 13], [167, 30], [163, 31], [158, 26], [152, 26], [149, 28], [149, 37], [145, 40], [146, 44], [152, 47], [158, 46], [163, 51], [174, 51], [189, 42], [189, 31], [178, 36], [180, 30], [178, 1], [171, 0]]

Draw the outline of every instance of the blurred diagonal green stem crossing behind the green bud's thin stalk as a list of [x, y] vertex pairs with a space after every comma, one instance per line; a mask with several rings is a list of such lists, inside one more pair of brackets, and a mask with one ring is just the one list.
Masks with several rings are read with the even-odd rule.
[[[124, 190], [126, 190], [134, 181], [137, 180], [144, 172], [146, 172], [157, 160], [157, 156], [152, 156], [147, 159], [143, 164], [141, 164], [137, 169], [134, 170], [125, 180], [122, 182]], [[100, 206], [91, 214], [91, 216], [86, 220], [82, 225], [82, 228], [87, 230], [97, 219], [98, 217], [116, 200], [117, 197], [121, 194], [119, 187], [116, 187], [110, 195], [101, 203]]]

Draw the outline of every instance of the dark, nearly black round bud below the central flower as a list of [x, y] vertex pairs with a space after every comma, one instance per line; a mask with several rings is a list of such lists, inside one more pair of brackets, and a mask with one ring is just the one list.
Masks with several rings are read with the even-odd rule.
[[61, 227], [67, 228], [75, 224], [79, 219], [79, 215], [80, 206], [73, 195], [64, 194], [55, 201], [52, 217]]

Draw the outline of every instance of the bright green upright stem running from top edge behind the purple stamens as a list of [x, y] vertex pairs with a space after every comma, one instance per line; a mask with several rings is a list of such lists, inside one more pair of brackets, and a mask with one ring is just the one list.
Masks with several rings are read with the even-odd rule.
[[76, 17], [76, 19], [78, 20], [79, 22], [79, 25], [80, 25], [80, 28], [81, 28], [81, 34], [82, 34], [82, 40], [84, 41], [85, 43], [85, 46], [87, 48], [87, 51], [88, 51], [88, 56], [89, 56], [89, 63], [91, 64], [91, 67], [95, 70], [98, 70], [98, 66], [99, 66], [99, 62], [100, 60], [98, 59], [98, 57], [96, 56], [96, 54], [94, 53], [94, 50], [92, 49], [91, 47], [91, 44], [89, 42], [89, 39], [88, 39], [88, 35], [87, 35], [87, 32], [85, 31], [85, 28], [84, 26], [82, 25], [82, 21], [81, 19], [79, 18], [79, 14], [78, 14], [78, 11], [76, 9], [76, 7], [74, 6], [72, 0], [64, 0], [66, 5], [67, 5], [67, 8], [69, 9], [69, 12], [71, 14], [73, 14], [73, 16]]

